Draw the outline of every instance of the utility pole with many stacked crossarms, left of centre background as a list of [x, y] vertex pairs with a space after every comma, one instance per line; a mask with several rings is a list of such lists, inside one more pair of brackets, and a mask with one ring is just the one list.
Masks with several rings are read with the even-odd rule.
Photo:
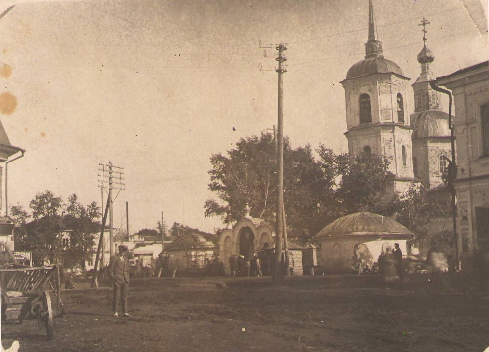
[[[101, 168], [102, 167], [102, 168]], [[108, 207], [110, 211], [109, 215], [109, 243], [110, 243], [110, 256], [115, 254], [114, 248], [114, 198], [113, 198], [113, 190], [124, 190], [124, 168], [119, 166], [114, 166], [112, 162], [108, 162], [108, 165], [99, 164], [99, 177], [101, 177], [101, 187], [105, 190], [105, 184], [108, 183]], [[117, 193], [119, 194], [119, 193]], [[117, 196], [116, 196], [117, 198]]]

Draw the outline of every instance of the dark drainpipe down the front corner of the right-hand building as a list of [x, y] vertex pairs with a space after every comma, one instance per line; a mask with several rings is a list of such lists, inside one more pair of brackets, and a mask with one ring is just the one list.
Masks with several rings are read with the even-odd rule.
[[437, 92], [448, 95], [448, 128], [450, 129], [450, 145], [452, 152], [452, 160], [449, 161], [448, 164], [448, 180], [447, 186], [450, 191], [450, 196], [452, 198], [452, 221], [453, 221], [453, 244], [455, 246], [455, 270], [460, 270], [460, 261], [459, 261], [459, 245], [457, 241], [457, 202], [456, 202], [456, 194], [455, 194], [455, 186], [454, 181], [457, 178], [457, 162], [455, 161], [455, 129], [452, 124], [452, 93], [449, 90], [438, 87], [436, 84], [436, 80], [430, 81], [430, 86], [432, 89]]

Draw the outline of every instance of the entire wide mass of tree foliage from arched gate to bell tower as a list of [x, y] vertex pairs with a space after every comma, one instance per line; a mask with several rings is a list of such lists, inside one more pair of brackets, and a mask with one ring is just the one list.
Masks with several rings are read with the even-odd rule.
[[[284, 140], [283, 192], [287, 226], [316, 233], [345, 214], [379, 209], [394, 175], [388, 161], [378, 156], [335, 154], [321, 145], [319, 160], [309, 145], [292, 148]], [[217, 199], [205, 203], [206, 216], [230, 224], [244, 215], [274, 218], [276, 145], [274, 136], [242, 138], [225, 155], [211, 157], [209, 190]]]

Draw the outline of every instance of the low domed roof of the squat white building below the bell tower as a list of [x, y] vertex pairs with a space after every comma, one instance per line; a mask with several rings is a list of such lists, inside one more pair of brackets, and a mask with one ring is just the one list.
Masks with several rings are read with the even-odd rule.
[[409, 236], [413, 233], [399, 222], [379, 214], [358, 212], [333, 221], [319, 231], [314, 239], [342, 236]]

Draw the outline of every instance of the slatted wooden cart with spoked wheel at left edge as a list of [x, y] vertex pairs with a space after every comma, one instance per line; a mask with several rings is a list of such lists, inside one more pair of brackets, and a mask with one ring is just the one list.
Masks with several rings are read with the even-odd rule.
[[[46, 327], [48, 340], [52, 340], [52, 319], [65, 313], [60, 298], [59, 266], [2, 268], [0, 274], [2, 322], [38, 319]], [[56, 299], [55, 309], [51, 305], [50, 289]]]

